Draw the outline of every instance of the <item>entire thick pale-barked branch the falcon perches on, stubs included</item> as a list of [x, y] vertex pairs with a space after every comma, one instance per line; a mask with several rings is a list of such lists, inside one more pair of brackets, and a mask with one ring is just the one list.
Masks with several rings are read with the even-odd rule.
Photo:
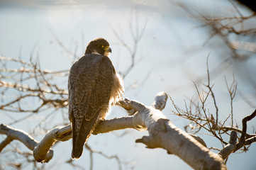
[[[148, 130], [149, 136], [136, 140], [136, 142], [142, 142], [148, 148], [166, 149], [168, 153], [177, 155], [194, 169], [226, 169], [223, 159], [203, 146], [204, 141], [201, 142], [203, 144], [201, 145], [199, 137], [193, 137], [180, 130], [166, 118], [160, 111], [165, 108], [166, 101], [167, 94], [164, 92], [157, 94], [152, 107], [125, 99], [120, 102], [120, 105], [127, 110], [135, 111], [134, 115], [103, 120], [94, 130], [94, 134], [125, 128]], [[0, 134], [7, 135], [6, 140], [0, 144], [0, 151], [8, 145], [10, 139], [19, 140], [33, 150], [37, 162], [50, 161], [53, 156], [53, 151], [50, 149], [52, 145], [58, 140], [65, 141], [72, 137], [70, 125], [50, 130], [41, 142], [33, 140], [26, 132], [5, 125], [1, 125]]]

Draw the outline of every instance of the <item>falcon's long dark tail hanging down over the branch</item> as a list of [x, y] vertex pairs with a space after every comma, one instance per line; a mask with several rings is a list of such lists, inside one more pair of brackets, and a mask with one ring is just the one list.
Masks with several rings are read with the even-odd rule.
[[82, 125], [79, 130], [75, 132], [76, 120], [72, 116], [72, 138], [73, 138], [73, 149], [72, 149], [72, 159], [79, 159], [82, 156], [84, 144], [87, 142], [89, 136], [94, 131], [94, 128], [98, 124], [99, 111], [94, 115], [91, 120], [87, 121], [82, 118]]

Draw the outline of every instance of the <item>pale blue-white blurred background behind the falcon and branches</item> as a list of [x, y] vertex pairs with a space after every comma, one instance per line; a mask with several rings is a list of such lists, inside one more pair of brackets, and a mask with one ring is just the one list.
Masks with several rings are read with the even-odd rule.
[[[69, 68], [82, 57], [90, 40], [102, 37], [110, 43], [111, 60], [124, 78], [125, 97], [150, 106], [155, 95], [165, 91], [176, 106], [185, 108], [191, 98], [199, 102], [194, 84], [200, 91], [208, 91], [204, 86], [208, 83], [208, 63], [218, 120], [242, 128], [242, 119], [256, 106], [255, 21], [250, 9], [228, 0], [1, 0], [0, 123], [24, 130], [38, 141], [48, 130], [67, 125], [67, 101], [63, 98], [67, 98]], [[35, 63], [36, 68], [25, 62]], [[52, 91], [62, 91], [60, 96], [49, 93], [44, 97], [62, 98], [62, 107], [40, 107], [43, 101], [36, 95], [6, 105], [29, 93], [22, 86], [40, 86], [39, 78], [25, 72], [26, 68], [44, 71], [37, 72], [38, 76], [45, 74], [50, 84], [56, 85]], [[6, 82], [20, 84], [21, 89], [9, 88]], [[48, 85], [40, 87], [49, 90]], [[236, 85], [231, 101], [228, 87]], [[215, 115], [210, 97], [206, 108], [207, 113]], [[170, 100], [163, 113], [182, 130], [189, 125], [189, 120], [174, 114]], [[125, 110], [114, 106], [108, 118], [124, 115]], [[255, 133], [255, 123], [248, 122], [247, 133]], [[148, 132], [120, 130], [92, 135], [87, 144], [93, 152], [85, 149], [82, 157], [73, 161], [72, 140], [57, 142], [54, 157], [47, 164], [34, 162], [32, 152], [14, 141], [2, 150], [0, 169], [191, 169], [163, 149], [136, 144], [143, 135]], [[208, 148], [223, 148], [206, 130], [196, 135]], [[4, 139], [1, 135], [0, 140]], [[223, 139], [228, 142], [229, 137]], [[239, 152], [228, 157], [228, 169], [255, 169], [256, 146]]]

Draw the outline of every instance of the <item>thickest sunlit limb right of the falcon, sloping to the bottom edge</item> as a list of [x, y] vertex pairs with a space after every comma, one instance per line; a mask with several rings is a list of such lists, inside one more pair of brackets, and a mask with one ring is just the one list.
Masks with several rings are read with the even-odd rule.
[[166, 149], [194, 169], [226, 169], [223, 159], [218, 154], [211, 152], [194, 137], [175, 127], [161, 111], [137, 101], [125, 100], [120, 104], [128, 110], [138, 111], [133, 117], [128, 118], [130, 127], [145, 128], [150, 133], [150, 136], [136, 142], [143, 142], [148, 148]]

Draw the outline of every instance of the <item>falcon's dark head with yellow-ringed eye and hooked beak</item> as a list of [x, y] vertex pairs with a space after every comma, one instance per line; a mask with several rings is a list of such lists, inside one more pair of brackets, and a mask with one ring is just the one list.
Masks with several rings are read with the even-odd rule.
[[111, 48], [109, 47], [109, 43], [104, 38], [96, 38], [91, 40], [87, 45], [87, 49], [85, 50], [85, 54], [96, 54], [96, 55], [105, 55], [109, 56], [111, 53]]

